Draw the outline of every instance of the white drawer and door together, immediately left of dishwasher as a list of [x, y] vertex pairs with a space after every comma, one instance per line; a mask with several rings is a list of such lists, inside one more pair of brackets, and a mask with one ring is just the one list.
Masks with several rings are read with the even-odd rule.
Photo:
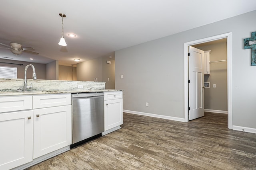
[[33, 96], [34, 149], [38, 158], [71, 144], [71, 95]]

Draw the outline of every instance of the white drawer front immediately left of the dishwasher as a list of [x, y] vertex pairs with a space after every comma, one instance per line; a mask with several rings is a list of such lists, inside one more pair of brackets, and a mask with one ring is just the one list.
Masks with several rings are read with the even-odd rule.
[[33, 96], [33, 109], [71, 104], [71, 94], [46, 94]]

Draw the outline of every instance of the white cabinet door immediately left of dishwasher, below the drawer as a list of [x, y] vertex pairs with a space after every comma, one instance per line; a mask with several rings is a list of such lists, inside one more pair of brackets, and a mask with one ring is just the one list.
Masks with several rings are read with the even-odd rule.
[[70, 145], [71, 128], [71, 105], [34, 109], [33, 158]]

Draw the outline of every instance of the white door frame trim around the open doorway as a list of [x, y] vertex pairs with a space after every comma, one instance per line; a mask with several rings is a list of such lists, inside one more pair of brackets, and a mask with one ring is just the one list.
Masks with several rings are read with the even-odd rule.
[[218, 39], [227, 39], [227, 93], [228, 93], [228, 128], [233, 129], [232, 123], [232, 48], [231, 48], [231, 33], [225, 33], [208, 37], [204, 39], [198, 39], [184, 43], [184, 119], [188, 122], [188, 46], [207, 43]]

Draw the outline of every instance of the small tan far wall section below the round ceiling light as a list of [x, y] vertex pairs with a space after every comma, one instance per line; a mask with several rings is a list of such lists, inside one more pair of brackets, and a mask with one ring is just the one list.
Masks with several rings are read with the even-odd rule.
[[59, 65], [59, 80], [76, 81], [76, 67]]

